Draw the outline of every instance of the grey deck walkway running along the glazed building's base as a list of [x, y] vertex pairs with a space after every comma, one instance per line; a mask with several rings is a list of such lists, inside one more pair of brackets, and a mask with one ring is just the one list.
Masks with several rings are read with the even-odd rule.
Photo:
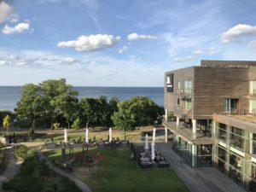
[[191, 192], [245, 192], [213, 167], [191, 168], [172, 151], [172, 143], [157, 143], [155, 148], [170, 161], [172, 169]]

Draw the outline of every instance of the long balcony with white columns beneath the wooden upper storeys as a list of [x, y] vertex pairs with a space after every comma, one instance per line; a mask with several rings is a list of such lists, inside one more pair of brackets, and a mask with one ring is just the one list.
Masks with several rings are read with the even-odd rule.
[[179, 128], [177, 128], [176, 121], [163, 121], [163, 125], [166, 125], [174, 133], [187, 138], [190, 142], [196, 144], [212, 144], [213, 139], [210, 132], [203, 132], [199, 128], [196, 130], [195, 137], [192, 131], [192, 126], [180, 122]]

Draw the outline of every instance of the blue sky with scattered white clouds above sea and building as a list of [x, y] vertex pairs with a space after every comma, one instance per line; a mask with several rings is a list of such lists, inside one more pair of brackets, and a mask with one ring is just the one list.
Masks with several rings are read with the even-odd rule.
[[0, 85], [163, 86], [201, 60], [256, 61], [255, 0], [0, 0]]

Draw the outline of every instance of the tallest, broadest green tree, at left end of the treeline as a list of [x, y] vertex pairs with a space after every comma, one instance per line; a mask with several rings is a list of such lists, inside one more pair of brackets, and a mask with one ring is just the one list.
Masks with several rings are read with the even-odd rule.
[[66, 79], [49, 79], [38, 85], [26, 84], [15, 112], [18, 119], [28, 125], [36, 120], [46, 127], [53, 125], [55, 119], [63, 118], [69, 124], [72, 118], [67, 110], [70, 109], [70, 102], [78, 101], [77, 96], [78, 92], [66, 83]]

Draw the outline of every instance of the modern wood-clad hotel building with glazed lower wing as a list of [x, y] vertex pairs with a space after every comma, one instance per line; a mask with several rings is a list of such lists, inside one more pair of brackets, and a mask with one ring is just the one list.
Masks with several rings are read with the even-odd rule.
[[184, 162], [215, 166], [256, 191], [256, 61], [201, 61], [166, 72], [164, 105], [163, 125]]

